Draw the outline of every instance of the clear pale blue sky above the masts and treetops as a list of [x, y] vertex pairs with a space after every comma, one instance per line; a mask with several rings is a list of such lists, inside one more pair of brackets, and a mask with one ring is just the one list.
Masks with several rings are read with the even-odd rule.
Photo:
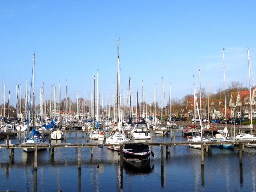
[[[0, 1], [0, 79], [15, 103], [16, 84], [25, 94], [35, 52], [36, 95], [44, 81], [44, 97], [51, 85], [65, 84], [68, 96], [91, 92], [93, 74], [99, 70], [99, 90], [113, 95], [116, 83], [117, 36], [122, 90], [135, 103], [144, 82], [144, 100], [165, 100], [193, 94], [193, 75], [199, 87], [215, 93], [231, 81], [248, 86], [247, 47], [255, 71], [256, 1]], [[115, 85], [116, 89], [116, 85]], [[84, 91], [85, 90], [85, 91]], [[58, 95], [58, 93], [56, 94]], [[6, 96], [7, 101], [8, 96]]]

